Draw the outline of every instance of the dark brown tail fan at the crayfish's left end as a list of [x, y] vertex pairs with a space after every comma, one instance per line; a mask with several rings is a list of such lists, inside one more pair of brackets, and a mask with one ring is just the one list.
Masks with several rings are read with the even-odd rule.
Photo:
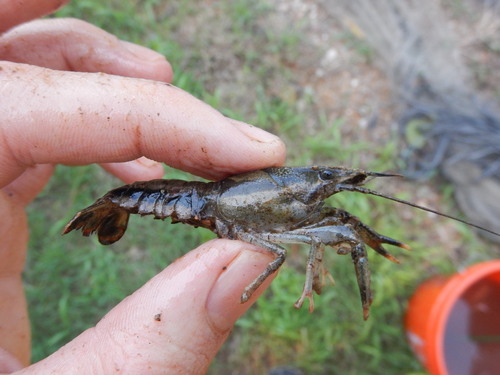
[[81, 230], [84, 236], [97, 232], [99, 242], [110, 245], [118, 241], [127, 230], [129, 213], [109, 201], [99, 200], [78, 212], [66, 224], [62, 234]]

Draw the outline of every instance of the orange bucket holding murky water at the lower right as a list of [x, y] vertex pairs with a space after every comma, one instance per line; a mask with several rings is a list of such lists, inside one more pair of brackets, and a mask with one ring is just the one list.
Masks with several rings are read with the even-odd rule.
[[500, 260], [420, 284], [405, 329], [432, 375], [500, 374]]

